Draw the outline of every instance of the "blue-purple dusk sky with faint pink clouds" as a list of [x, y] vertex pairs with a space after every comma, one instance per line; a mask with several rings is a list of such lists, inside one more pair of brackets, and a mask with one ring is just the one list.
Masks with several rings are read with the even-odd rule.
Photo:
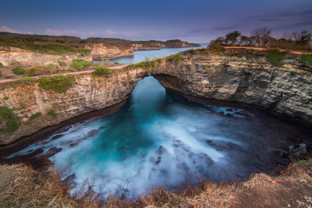
[[207, 43], [255, 28], [312, 31], [312, 0], [1, 0], [0, 31]]

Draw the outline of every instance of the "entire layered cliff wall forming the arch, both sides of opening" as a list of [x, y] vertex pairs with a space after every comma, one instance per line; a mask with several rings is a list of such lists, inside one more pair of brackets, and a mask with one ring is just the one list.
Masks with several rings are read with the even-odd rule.
[[[286, 64], [279, 67], [272, 66], [266, 56], [266, 51], [227, 49], [214, 53], [200, 49], [195, 55], [185, 52], [178, 64], [163, 58], [163, 63], [151, 73], [166, 89], [186, 96], [262, 105], [312, 122], [312, 73], [300, 67], [297, 55], [287, 55]], [[118, 70], [110, 77], [95, 79], [89, 73], [78, 74], [76, 84], [63, 94], [37, 84], [2, 88], [0, 98], [9, 99], [0, 99], [0, 105], [14, 108], [22, 125], [13, 134], [0, 134], [0, 145], [45, 126], [118, 104], [145, 76], [146, 69], [140, 68]], [[46, 114], [51, 109], [56, 112], [56, 119]], [[37, 112], [42, 116], [29, 120]]]

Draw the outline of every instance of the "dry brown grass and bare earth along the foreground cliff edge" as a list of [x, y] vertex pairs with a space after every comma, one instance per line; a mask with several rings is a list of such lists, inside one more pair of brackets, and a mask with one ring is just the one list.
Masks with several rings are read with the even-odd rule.
[[[114, 196], [108, 199], [101, 198], [89, 187], [86, 194], [79, 200], [71, 197], [66, 187], [58, 180], [55, 172], [45, 173], [33, 170], [25, 165], [0, 166], [0, 207], [274, 207], [267, 206], [265, 199], [259, 197], [276, 196], [276, 202], [294, 207], [311, 206], [310, 196], [304, 196], [305, 201], [295, 200], [303, 198], [302, 193], [286, 193], [281, 190], [285, 181], [290, 188], [303, 190], [305, 193], [312, 190], [312, 159], [299, 161], [287, 167], [280, 176], [270, 177], [264, 173], [254, 174], [251, 178], [238, 185], [201, 181], [195, 189], [183, 191], [179, 194], [163, 189], [153, 189], [142, 199], [133, 198], [131, 201], [122, 201]], [[280, 182], [277, 182], [280, 181]], [[291, 181], [291, 183], [290, 183]], [[290, 188], [288, 190], [290, 190]], [[256, 191], [255, 191], [256, 190]], [[262, 190], [262, 192], [261, 192]], [[253, 193], [248, 193], [252, 192]], [[244, 197], [244, 194], [247, 194]], [[249, 194], [249, 195], [248, 195]], [[292, 194], [292, 195], [291, 195]], [[256, 199], [251, 196], [256, 195]], [[258, 195], [258, 196], [257, 196]], [[284, 201], [278, 197], [285, 197]], [[291, 195], [291, 196], [289, 196]], [[287, 200], [286, 200], [287, 199]], [[291, 201], [294, 199], [293, 201]], [[299, 198], [298, 198], [299, 199]], [[290, 201], [290, 202], [288, 202]], [[250, 203], [253, 203], [252, 205]], [[274, 205], [274, 203], [271, 203]]]

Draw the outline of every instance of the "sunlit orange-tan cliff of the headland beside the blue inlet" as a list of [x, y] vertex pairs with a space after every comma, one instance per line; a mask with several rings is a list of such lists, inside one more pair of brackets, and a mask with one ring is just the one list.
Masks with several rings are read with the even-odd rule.
[[122, 57], [122, 56], [134, 56], [134, 52], [131, 48], [122, 50], [117, 46], [110, 46], [103, 43], [89, 43], [85, 46], [86, 49], [90, 49], [93, 59], [105, 58], [105, 57]]

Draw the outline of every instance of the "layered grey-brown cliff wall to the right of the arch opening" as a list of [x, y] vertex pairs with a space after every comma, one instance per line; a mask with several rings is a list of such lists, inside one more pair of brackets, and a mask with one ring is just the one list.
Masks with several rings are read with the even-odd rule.
[[257, 104], [312, 122], [311, 71], [300, 67], [299, 55], [287, 55], [286, 64], [278, 67], [266, 56], [267, 51], [251, 49], [219, 54], [206, 50], [184, 55], [178, 65], [167, 62], [155, 78], [166, 89], [183, 94]]

